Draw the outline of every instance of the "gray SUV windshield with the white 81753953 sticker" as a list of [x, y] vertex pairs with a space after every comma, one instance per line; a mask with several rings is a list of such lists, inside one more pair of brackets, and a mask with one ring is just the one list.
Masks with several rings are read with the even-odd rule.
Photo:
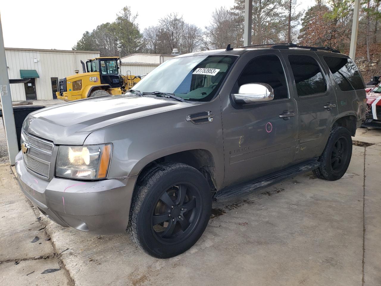
[[133, 89], [166, 92], [191, 101], [210, 101], [237, 56], [189, 56], [165, 61]]

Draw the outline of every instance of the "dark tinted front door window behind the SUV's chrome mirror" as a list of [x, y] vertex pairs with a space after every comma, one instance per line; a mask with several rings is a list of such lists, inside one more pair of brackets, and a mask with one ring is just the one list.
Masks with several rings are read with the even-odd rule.
[[243, 84], [263, 83], [274, 89], [274, 100], [288, 98], [286, 75], [275, 55], [258, 56], [247, 64], [238, 79]]

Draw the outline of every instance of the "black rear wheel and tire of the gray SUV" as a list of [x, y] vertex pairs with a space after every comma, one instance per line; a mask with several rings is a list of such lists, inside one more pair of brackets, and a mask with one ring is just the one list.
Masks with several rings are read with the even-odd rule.
[[313, 172], [320, 179], [338, 180], [347, 171], [351, 157], [351, 133], [344, 127], [333, 127], [323, 154], [319, 157], [320, 167]]

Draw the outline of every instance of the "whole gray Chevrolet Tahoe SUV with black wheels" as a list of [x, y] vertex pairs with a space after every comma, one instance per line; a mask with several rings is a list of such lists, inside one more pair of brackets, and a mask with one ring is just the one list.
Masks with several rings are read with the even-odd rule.
[[341, 178], [365, 100], [352, 59], [328, 48], [181, 55], [125, 95], [30, 114], [18, 181], [64, 227], [127, 231], [148, 254], [173, 257], [200, 238], [212, 201], [309, 170]]

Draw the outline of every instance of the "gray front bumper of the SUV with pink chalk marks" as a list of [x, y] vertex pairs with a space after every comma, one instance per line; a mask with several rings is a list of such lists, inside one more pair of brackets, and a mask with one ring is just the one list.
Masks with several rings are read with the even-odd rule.
[[27, 198], [63, 227], [96, 234], [125, 232], [137, 176], [92, 182], [54, 177], [47, 182], [27, 171], [21, 152], [16, 172]]

